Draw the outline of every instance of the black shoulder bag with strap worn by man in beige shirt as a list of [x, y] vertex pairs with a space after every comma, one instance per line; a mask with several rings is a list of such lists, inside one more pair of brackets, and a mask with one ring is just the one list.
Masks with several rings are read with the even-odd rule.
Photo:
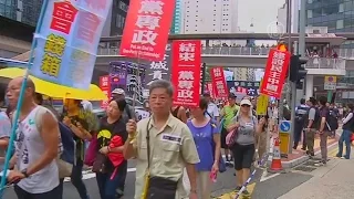
[[142, 199], [174, 199], [176, 198], [178, 181], [167, 178], [150, 176], [150, 136], [149, 136], [149, 118], [146, 127], [146, 143], [147, 143], [147, 171], [145, 175], [145, 185], [142, 193]]

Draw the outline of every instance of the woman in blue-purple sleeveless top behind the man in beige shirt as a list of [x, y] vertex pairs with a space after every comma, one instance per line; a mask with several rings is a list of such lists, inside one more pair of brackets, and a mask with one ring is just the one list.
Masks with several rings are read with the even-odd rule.
[[208, 101], [201, 98], [199, 107], [190, 109], [192, 119], [187, 122], [200, 159], [200, 163], [197, 164], [197, 185], [202, 199], [210, 198], [210, 172], [217, 174], [219, 171], [219, 160], [221, 158], [220, 132], [216, 122], [205, 115], [207, 108]]

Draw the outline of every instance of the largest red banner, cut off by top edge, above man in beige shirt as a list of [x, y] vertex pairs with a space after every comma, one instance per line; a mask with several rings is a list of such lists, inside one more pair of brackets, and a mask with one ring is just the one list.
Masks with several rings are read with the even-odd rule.
[[163, 61], [174, 9], [175, 0], [131, 1], [119, 54]]

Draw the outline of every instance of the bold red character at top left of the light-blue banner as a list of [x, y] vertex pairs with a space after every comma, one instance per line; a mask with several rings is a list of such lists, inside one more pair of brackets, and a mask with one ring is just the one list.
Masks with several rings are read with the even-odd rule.
[[76, 14], [77, 9], [70, 1], [54, 2], [51, 29], [69, 34]]

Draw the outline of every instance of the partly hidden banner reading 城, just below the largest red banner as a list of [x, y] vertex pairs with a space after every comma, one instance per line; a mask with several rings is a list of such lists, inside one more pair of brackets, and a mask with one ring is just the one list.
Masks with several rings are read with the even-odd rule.
[[164, 59], [162, 61], [153, 61], [146, 67], [146, 85], [149, 86], [155, 80], [170, 80], [170, 44], [167, 44]]

